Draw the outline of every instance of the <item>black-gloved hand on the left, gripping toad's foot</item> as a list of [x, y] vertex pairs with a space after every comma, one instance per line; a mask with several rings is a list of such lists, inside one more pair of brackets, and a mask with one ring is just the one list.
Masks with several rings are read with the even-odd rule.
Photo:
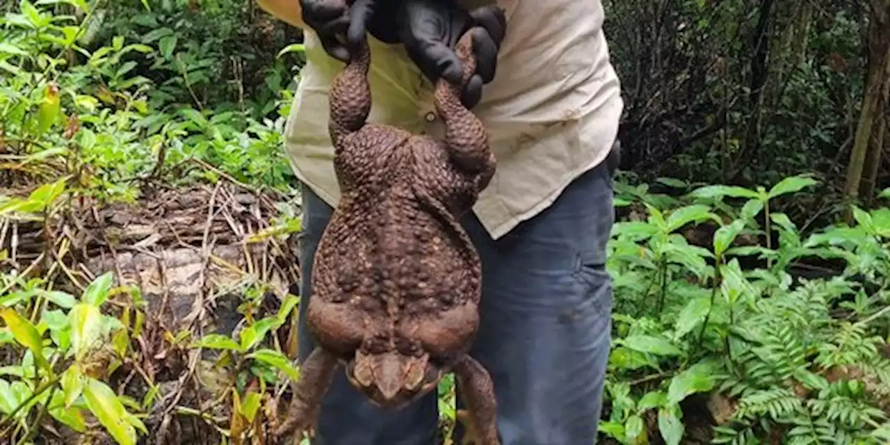
[[366, 32], [396, 43], [396, 8], [403, 0], [300, 0], [303, 21], [319, 35], [325, 52], [338, 61], [365, 43]]

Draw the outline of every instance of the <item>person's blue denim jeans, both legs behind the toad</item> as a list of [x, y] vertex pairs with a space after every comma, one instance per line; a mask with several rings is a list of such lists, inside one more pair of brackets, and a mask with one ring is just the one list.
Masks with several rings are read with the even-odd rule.
[[[578, 177], [545, 211], [501, 239], [492, 240], [472, 213], [462, 221], [483, 270], [481, 324], [471, 355], [494, 381], [503, 445], [595, 442], [610, 350], [610, 164]], [[303, 320], [312, 260], [332, 211], [305, 185], [303, 209], [300, 360], [314, 347]], [[437, 425], [434, 392], [398, 411], [379, 409], [339, 368], [322, 401], [314, 443], [433, 445]], [[458, 427], [457, 439], [460, 433]]]

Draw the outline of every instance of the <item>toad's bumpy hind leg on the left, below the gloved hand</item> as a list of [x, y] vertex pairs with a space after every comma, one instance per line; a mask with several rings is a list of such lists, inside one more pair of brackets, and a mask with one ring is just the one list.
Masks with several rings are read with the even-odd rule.
[[371, 112], [371, 86], [368, 83], [371, 51], [368, 42], [360, 44], [351, 56], [331, 83], [328, 132], [335, 150], [340, 150], [345, 136], [365, 125]]

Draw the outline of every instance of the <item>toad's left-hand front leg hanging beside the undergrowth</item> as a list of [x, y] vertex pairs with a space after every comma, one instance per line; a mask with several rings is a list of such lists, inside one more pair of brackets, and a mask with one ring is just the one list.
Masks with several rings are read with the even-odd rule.
[[274, 429], [272, 435], [281, 438], [294, 431], [301, 438], [303, 431], [314, 426], [319, 414], [321, 399], [334, 379], [336, 356], [321, 348], [315, 348], [300, 368], [300, 379], [294, 388], [285, 422]]

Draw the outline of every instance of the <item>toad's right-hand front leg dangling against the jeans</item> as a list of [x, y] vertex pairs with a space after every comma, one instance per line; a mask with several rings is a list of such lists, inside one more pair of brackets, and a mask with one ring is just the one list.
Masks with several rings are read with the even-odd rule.
[[498, 445], [497, 411], [494, 384], [489, 372], [473, 357], [465, 355], [454, 367], [461, 397], [469, 409], [473, 445]]

